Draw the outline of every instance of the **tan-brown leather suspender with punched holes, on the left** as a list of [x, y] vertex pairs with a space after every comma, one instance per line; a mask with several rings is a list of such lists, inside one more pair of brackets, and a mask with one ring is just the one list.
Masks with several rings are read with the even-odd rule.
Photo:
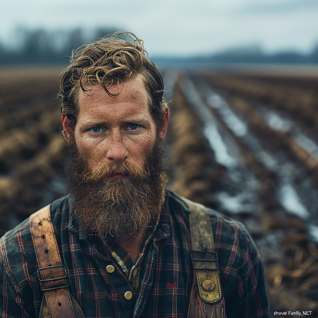
[[50, 318], [74, 317], [66, 269], [61, 261], [52, 224], [50, 205], [33, 213], [29, 220], [38, 262], [38, 278]]

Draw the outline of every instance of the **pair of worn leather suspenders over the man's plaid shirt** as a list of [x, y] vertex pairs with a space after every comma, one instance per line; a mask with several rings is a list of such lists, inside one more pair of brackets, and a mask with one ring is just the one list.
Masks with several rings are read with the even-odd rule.
[[[207, 209], [186, 198], [190, 208], [191, 258], [195, 280], [190, 295], [188, 318], [225, 318], [218, 255]], [[50, 205], [30, 216], [30, 231], [38, 262], [38, 278], [50, 318], [75, 318], [63, 265], [51, 220]]]

